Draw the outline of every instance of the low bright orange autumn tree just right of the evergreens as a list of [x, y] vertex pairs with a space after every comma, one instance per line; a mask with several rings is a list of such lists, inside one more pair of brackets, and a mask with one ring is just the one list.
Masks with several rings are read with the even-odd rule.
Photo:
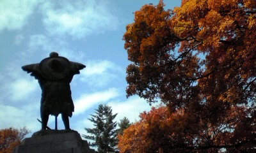
[[180, 149], [171, 148], [176, 144], [170, 136], [177, 136], [173, 133], [173, 123], [179, 122], [182, 115], [182, 111], [171, 114], [166, 106], [153, 107], [150, 112], [141, 113], [140, 120], [118, 136], [120, 152], [179, 152]]

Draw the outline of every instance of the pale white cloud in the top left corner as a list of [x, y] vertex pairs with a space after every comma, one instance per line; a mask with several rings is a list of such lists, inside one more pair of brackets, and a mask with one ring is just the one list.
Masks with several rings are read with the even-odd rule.
[[27, 22], [39, 1], [1, 0], [0, 1], [0, 31], [3, 29], [21, 29]]

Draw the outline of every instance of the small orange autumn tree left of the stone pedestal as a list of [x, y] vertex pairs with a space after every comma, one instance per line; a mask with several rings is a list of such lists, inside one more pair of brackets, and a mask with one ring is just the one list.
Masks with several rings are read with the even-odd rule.
[[13, 149], [20, 145], [21, 140], [28, 135], [27, 128], [0, 129], [0, 152], [12, 153]]

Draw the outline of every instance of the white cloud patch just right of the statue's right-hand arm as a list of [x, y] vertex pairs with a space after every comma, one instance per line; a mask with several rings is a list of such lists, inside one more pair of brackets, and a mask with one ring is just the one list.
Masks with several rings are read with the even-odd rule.
[[88, 61], [80, 78], [90, 86], [103, 87], [115, 80], [118, 73], [124, 73], [124, 70], [111, 61]]

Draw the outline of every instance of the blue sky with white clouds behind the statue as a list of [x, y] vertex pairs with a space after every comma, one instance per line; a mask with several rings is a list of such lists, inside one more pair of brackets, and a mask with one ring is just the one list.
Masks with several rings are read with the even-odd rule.
[[[99, 104], [118, 113], [116, 121], [138, 120], [150, 110], [138, 96], [126, 98], [125, 69], [129, 64], [122, 37], [133, 12], [157, 0], [1, 0], [0, 1], [0, 128], [40, 130], [41, 89], [21, 66], [38, 63], [51, 52], [86, 68], [72, 80], [75, 112], [70, 128], [85, 134]], [[166, 9], [181, 0], [166, 0]], [[54, 117], [48, 126], [54, 128]], [[63, 129], [61, 117], [58, 128]]]

